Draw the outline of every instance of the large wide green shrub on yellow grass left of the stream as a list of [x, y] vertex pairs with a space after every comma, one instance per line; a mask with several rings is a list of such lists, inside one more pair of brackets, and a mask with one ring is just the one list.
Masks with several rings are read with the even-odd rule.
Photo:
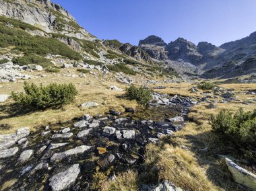
[[11, 95], [13, 99], [24, 107], [30, 108], [53, 108], [59, 107], [64, 104], [69, 104], [75, 99], [77, 95], [77, 90], [75, 85], [72, 83], [61, 84], [51, 83], [50, 85], [36, 86], [34, 83], [31, 85], [29, 83], [24, 83], [25, 93], [14, 93]]

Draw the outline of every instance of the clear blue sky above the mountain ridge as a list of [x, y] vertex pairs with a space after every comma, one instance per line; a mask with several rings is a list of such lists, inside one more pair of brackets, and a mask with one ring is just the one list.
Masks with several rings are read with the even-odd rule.
[[99, 39], [137, 45], [152, 34], [220, 46], [256, 31], [256, 0], [53, 0]]

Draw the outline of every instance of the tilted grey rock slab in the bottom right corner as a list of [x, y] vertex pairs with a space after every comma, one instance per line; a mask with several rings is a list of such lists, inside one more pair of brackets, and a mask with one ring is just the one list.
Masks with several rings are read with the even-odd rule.
[[243, 169], [243, 167], [236, 165], [236, 163], [228, 158], [225, 158], [225, 161], [236, 183], [242, 184], [243, 186], [250, 188], [251, 190], [256, 190], [255, 174], [252, 174], [246, 169]]

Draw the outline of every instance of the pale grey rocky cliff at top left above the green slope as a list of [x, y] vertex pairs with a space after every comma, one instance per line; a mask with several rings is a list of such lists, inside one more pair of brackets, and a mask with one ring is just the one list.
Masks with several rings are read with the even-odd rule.
[[48, 33], [79, 39], [91, 37], [63, 7], [49, 0], [2, 0], [0, 15], [26, 22]]

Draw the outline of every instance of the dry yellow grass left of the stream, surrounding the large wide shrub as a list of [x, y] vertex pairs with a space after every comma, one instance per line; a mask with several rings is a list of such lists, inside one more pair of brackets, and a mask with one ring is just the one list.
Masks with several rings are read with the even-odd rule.
[[[85, 78], [72, 78], [72, 77], [58, 77], [49, 75], [44, 78], [29, 79], [29, 83], [35, 83], [39, 85], [47, 85], [49, 83], [73, 83], [77, 88], [79, 95], [75, 98], [75, 102], [67, 106], [63, 106], [61, 109], [49, 109], [44, 111], [34, 111], [27, 114], [21, 114], [13, 110], [13, 100], [9, 99], [7, 102], [0, 104], [0, 124], [8, 124], [11, 128], [0, 129], [1, 133], [15, 132], [22, 126], [29, 126], [32, 130], [35, 130], [36, 126], [46, 126], [47, 124], [54, 124], [57, 122], [66, 122], [73, 118], [82, 116], [83, 114], [104, 114], [110, 109], [115, 109], [120, 112], [125, 110], [124, 106], [135, 108], [136, 102], [119, 98], [125, 91], [113, 91], [109, 87], [111, 85], [117, 85], [125, 89], [125, 85], [120, 85], [115, 81], [101, 81], [100, 79], [88, 75]], [[11, 91], [23, 91], [23, 82], [18, 83], [2, 83], [0, 88], [0, 94], [8, 94]], [[96, 108], [79, 108], [79, 105], [84, 102], [97, 102], [100, 106]]]

